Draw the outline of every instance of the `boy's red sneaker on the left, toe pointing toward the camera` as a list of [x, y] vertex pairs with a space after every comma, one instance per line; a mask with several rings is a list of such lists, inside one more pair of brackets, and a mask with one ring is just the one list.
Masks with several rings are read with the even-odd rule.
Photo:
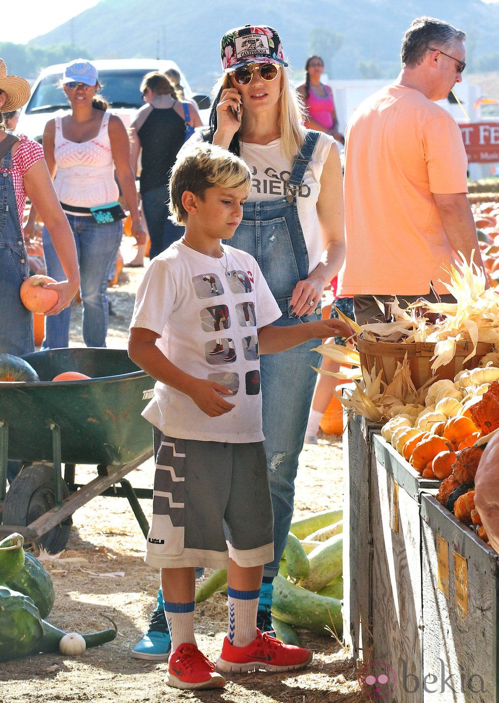
[[223, 688], [226, 680], [196, 645], [179, 645], [168, 662], [166, 683], [173, 688]]

